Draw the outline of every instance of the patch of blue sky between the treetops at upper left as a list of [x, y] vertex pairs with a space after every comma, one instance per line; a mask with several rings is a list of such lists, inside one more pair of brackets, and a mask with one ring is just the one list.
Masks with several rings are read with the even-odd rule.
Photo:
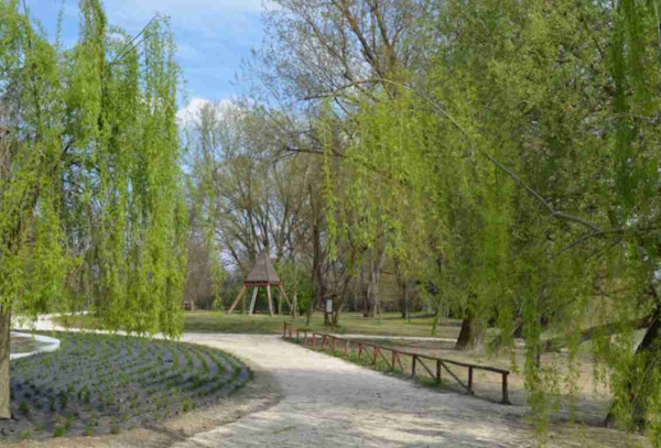
[[[26, 0], [31, 17], [54, 39], [64, 4], [62, 41], [78, 35], [78, 0]], [[137, 34], [156, 13], [169, 15], [188, 99], [231, 99], [243, 58], [262, 41], [262, 0], [105, 0], [110, 24]]]

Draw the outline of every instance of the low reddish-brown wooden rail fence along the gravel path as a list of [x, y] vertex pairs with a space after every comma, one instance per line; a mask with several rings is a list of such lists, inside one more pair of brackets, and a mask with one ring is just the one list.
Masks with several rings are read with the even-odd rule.
[[[288, 324], [288, 323], [283, 323], [282, 337], [284, 339], [294, 339], [292, 334], [293, 334], [292, 325]], [[499, 369], [499, 368], [494, 368], [494, 367], [488, 367], [488, 365], [472, 364], [468, 362], [459, 362], [459, 361], [454, 361], [454, 360], [444, 359], [444, 358], [435, 358], [435, 357], [430, 357], [426, 354], [413, 353], [413, 352], [402, 351], [402, 350], [398, 350], [398, 349], [393, 349], [393, 348], [376, 346], [373, 343], [357, 342], [357, 341], [353, 341], [350, 339], [338, 338], [334, 335], [328, 335], [328, 334], [323, 334], [323, 332], [296, 329], [295, 334], [296, 334], [295, 339], [297, 341], [301, 340], [301, 334], [303, 334], [303, 345], [305, 347], [310, 346], [313, 348], [318, 347], [321, 349], [330, 349], [335, 352], [339, 350], [339, 351], [344, 351], [344, 353], [347, 356], [354, 351], [354, 347], [355, 347], [356, 351], [358, 353], [358, 359], [360, 359], [360, 360], [366, 359], [366, 360], [370, 361], [370, 363], [375, 367], [377, 365], [377, 363], [379, 361], [382, 361], [390, 371], [397, 370], [397, 367], [399, 365], [399, 370], [403, 374], [407, 374], [407, 372], [405, 372], [407, 369], [404, 369], [404, 367], [402, 364], [402, 358], [409, 357], [409, 358], [411, 358], [411, 363], [410, 363], [411, 378], [419, 376], [419, 372], [424, 371], [427, 373], [427, 375], [431, 379], [435, 380], [437, 384], [441, 384], [441, 381], [443, 379], [443, 371], [445, 371], [463, 389], [465, 389], [466, 392], [468, 392], [468, 394], [470, 394], [470, 395], [475, 394], [475, 391], [473, 387], [473, 380], [474, 380], [473, 373], [475, 370], [483, 370], [483, 371], [487, 371], [487, 372], [491, 372], [491, 373], [498, 373], [501, 375], [501, 386], [502, 386], [502, 400], [500, 401], [500, 403], [501, 404], [511, 404], [509, 401], [509, 390], [508, 390], [508, 376], [509, 376], [510, 372], [509, 372], [509, 370], [506, 370], [506, 369]], [[310, 334], [310, 336], [308, 336], [308, 334]], [[319, 346], [317, 346], [317, 338], [321, 339]], [[338, 349], [338, 342], [339, 342], [339, 349]], [[388, 352], [390, 352], [389, 357], [387, 357], [387, 354], [386, 354]], [[425, 363], [425, 361], [426, 361], [426, 363]], [[427, 365], [427, 363], [432, 368], [430, 368], [430, 365]], [[459, 375], [457, 375], [455, 372], [453, 372], [449, 369], [449, 365], [467, 369], [466, 382], [462, 381], [462, 379], [459, 379]], [[422, 370], [419, 370], [419, 368]]]

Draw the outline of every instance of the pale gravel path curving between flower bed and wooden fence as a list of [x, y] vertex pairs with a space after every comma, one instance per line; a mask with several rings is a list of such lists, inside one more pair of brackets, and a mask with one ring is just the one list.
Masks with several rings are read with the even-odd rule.
[[[194, 447], [525, 447], [523, 409], [435, 393], [275, 336], [185, 335], [270, 371], [283, 400], [175, 445]], [[508, 418], [509, 416], [509, 418]]]

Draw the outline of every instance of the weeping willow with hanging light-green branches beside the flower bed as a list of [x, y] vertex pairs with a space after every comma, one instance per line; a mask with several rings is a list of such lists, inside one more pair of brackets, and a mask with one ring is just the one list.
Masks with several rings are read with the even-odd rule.
[[51, 44], [0, 1], [0, 417], [11, 316], [87, 306], [111, 330], [181, 332], [186, 215], [167, 22], [131, 39], [80, 1]]

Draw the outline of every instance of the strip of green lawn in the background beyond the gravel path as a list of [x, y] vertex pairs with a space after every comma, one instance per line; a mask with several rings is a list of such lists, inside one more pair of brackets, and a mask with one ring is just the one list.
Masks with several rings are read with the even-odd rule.
[[[187, 312], [184, 314], [184, 331], [187, 332], [226, 332], [226, 334], [252, 334], [269, 335], [282, 331], [282, 321], [292, 323], [294, 328], [305, 328], [305, 317], [293, 319], [290, 316], [253, 315], [241, 314], [228, 315], [218, 312]], [[76, 316], [59, 318], [61, 325], [68, 324], [72, 327], [95, 328], [96, 321], [89, 316]], [[366, 318], [360, 314], [347, 313], [340, 315], [338, 327], [324, 327], [324, 316], [315, 314], [311, 325], [307, 327], [314, 331], [353, 334], [353, 335], [379, 335], [379, 336], [432, 336], [432, 321], [430, 316], [414, 315], [411, 320], [404, 320], [398, 313], [383, 314], [380, 317]], [[458, 321], [445, 323], [438, 328], [435, 336], [441, 338], [456, 338], [459, 332]]]

